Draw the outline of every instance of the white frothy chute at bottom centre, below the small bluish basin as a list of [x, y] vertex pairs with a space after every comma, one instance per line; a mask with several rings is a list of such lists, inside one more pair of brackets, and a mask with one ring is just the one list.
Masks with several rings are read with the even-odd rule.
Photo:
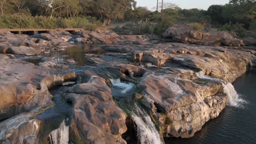
[[137, 125], [137, 137], [141, 144], [161, 144], [161, 137], [148, 113], [137, 104], [132, 108], [131, 117]]

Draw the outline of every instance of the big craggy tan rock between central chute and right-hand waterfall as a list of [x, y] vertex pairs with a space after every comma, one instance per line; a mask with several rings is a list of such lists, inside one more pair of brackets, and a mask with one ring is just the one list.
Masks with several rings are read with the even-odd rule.
[[144, 95], [142, 104], [155, 113], [164, 136], [193, 136], [203, 124], [219, 115], [227, 101], [220, 83], [201, 86], [176, 74], [147, 75], [138, 86]]

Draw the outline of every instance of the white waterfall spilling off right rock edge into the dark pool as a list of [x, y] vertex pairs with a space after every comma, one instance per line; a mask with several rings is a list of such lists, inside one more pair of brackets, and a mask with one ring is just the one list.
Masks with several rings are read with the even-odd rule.
[[237, 94], [232, 83], [226, 82], [214, 77], [203, 75], [202, 71], [196, 73], [196, 76], [199, 77], [200, 79], [221, 82], [223, 85], [223, 91], [228, 96], [228, 105], [235, 106], [235, 107], [243, 107], [243, 104], [246, 103], [246, 100], [241, 99], [240, 95]]

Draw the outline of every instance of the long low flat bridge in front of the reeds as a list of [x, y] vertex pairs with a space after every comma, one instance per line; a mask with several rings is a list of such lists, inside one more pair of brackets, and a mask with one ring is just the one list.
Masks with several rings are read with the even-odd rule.
[[77, 32], [83, 31], [84, 28], [55, 28], [55, 29], [35, 29], [35, 28], [15, 28], [15, 29], [0, 29], [3, 31], [9, 31], [14, 34], [27, 34], [34, 35], [37, 33], [49, 33], [54, 31], [66, 31], [66, 32]]

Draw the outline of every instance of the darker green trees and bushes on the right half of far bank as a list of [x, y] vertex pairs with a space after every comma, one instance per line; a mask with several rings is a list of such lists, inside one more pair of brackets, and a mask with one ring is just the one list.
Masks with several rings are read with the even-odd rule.
[[[256, 31], [255, 16], [255, 0], [231, 0], [225, 5], [211, 5], [208, 10], [181, 9], [171, 3], [164, 3], [161, 12], [138, 7], [126, 11], [124, 20], [133, 22], [132, 26], [125, 28], [139, 34], [152, 33], [153, 29], [154, 34], [162, 34], [167, 27], [180, 23], [190, 23], [195, 31], [201, 31], [211, 23], [211, 27], [219, 28], [219, 31], [245, 37], [246, 31]], [[139, 31], [141, 29], [143, 31]], [[121, 31], [121, 28], [117, 30]]]

